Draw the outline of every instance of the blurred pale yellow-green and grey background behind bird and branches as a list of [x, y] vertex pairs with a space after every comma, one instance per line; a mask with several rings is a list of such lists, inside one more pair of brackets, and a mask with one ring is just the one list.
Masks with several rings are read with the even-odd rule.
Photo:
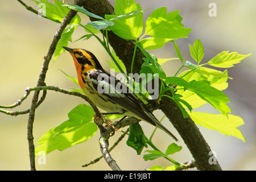
[[[34, 2], [24, 0], [27, 5], [38, 9]], [[49, 1], [52, 2], [52, 1]], [[114, 1], [111, 1], [114, 5]], [[196, 39], [200, 39], [205, 48], [203, 61], [208, 61], [221, 51], [238, 52], [243, 55], [253, 53], [253, 55], [242, 60], [242, 63], [229, 69], [229, 88], [224, 92], [228, 94], [230, 102], [228, 105], [232, 114], [242, 117], [245, 125], [239, 127], [246, 143], [242, 140], [225, 136], [199, 126], [205, 140], [213, 151], [217, 153], [217, 159], [224, 170], [255, 170], [255, 118], [256, 118], [256, 2], [254, 0], [226, 0], [226, 1], [137, 1], [141, 3], [142, 9], [148, 9], [144, 13], [144, 20], [154, 9], [167, 6], [168, 13], [180, 10], [183, 17], [182, 23], [185, 27], [192, 28], [187, 39], [177, 41], [181, 55], [184, 60], [192, 60], [189, 56], [188, 44], [193, 44]], [[66, 0], [65, 3], [73, 3]], [[217, 16], [210, 17], [209, 3], [216, 3]], [[82, 16], [82, 22], [89, 21], [86, 16]], [[35, 86], [43, 64], [43, 57], [46, 56], [49, 45], [52, 42], [59, 24], [50, 20], [40, 18], [38, 15], [27, 11], [18, 1], [0, 1], [0, 105], [10, 105], [19, 100], [24, 89], [28, 86]], [[82, 28], [77, 28], [73, 34], [73, 40], [84, 35]], [[91, 38], [86, 41], [69, 43], [72, 48], [85, 48], [93, 52], [100, 60], [102, 66], [108, 70], [106, 60], [109, 56], [96, 39]], [[176, 57], [173, 44], [166, 44], [164, 48], [151, 51], [159, 58]], [[178, 60], [169, 61], [163, 65], [163, 69], [168, 76], [172, 76], [180, 67]], [[73, 60], [68, 53], [61, 54], [55, 63], [49, 64], [46, 77], [46, 84], [69, 89], [76, 85], [69, 81], [58, 69], [75, 76]], [[14, 110], [25, 110], [30, 107], [33, 93]], [[46, 131], [68, 119], [67, 113], [78, 104], [84, 103], [81, 98], [67, 96], [64, 94], [48, 91], [46, 100], [36, 110], [34, 123], [34, 141], [36, 142]], [[211, 106], [205, 105], [197, 111], [208, 113], [218, 113]], [[160, 111], [154, 113], [159, 119], [163, 114]], [[27, 115], [11, 117], [0, 113], [0, 170], [29, 170], [28, 142], [27, 142]], [[163, 124], [172, 131], [178, 138], [179, 134], [165, 119]], [[149, 135], [153, 127], [145, 122], [141, 122], [144, 133]], [[110, 138], [110, 146], [117, 140], [121, 133], [116, 133]], [[46, 164], [38, 164], [36, 156], [36, 169], [38, 170], [109, 170], [108, 164], [102, 159], [100, 162], [87, 168], [82, 168], [83, 164], [101, 155], [98, 146], [99, 133], [86, 141], [68, 148], [62, 152], [53, 151], [46, 156]], [[138, 156], [132, 148], [125, 142], [126, 138], [118, 144], [112, 151], [112, 156], [123, 170], [143, 170], [154, 165], [166, 166], [167, 160], [157, 159], [144, 162], [142, 156]], [[166, 140], [166, 134], [160, 130], [156, 131], [154, 141], [162, 150], [173, 141]], [[179, 162], [192, 160], [192, 156], [185, 147], [182, 140], [177, 143], [183, 146], [183, 150], [172, 156]], [[150, 149], [150, 148], [149, 148]], [[143, 154], [143, 152], [142, 152]]]

